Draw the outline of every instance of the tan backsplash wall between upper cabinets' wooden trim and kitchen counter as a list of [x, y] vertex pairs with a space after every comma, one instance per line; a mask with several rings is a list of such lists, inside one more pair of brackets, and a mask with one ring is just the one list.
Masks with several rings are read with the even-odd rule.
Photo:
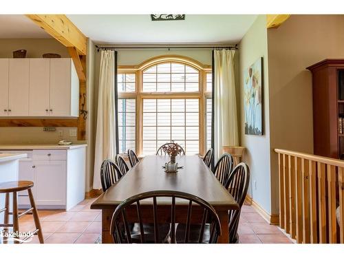
[[56, 127], [56, 131], [43, 131], [43, 127], [0, 127], [0, 144], [57, 144], [60, 140], [76, 143], [77, 136], [69, 136], [73, 129], [76, 127]]

